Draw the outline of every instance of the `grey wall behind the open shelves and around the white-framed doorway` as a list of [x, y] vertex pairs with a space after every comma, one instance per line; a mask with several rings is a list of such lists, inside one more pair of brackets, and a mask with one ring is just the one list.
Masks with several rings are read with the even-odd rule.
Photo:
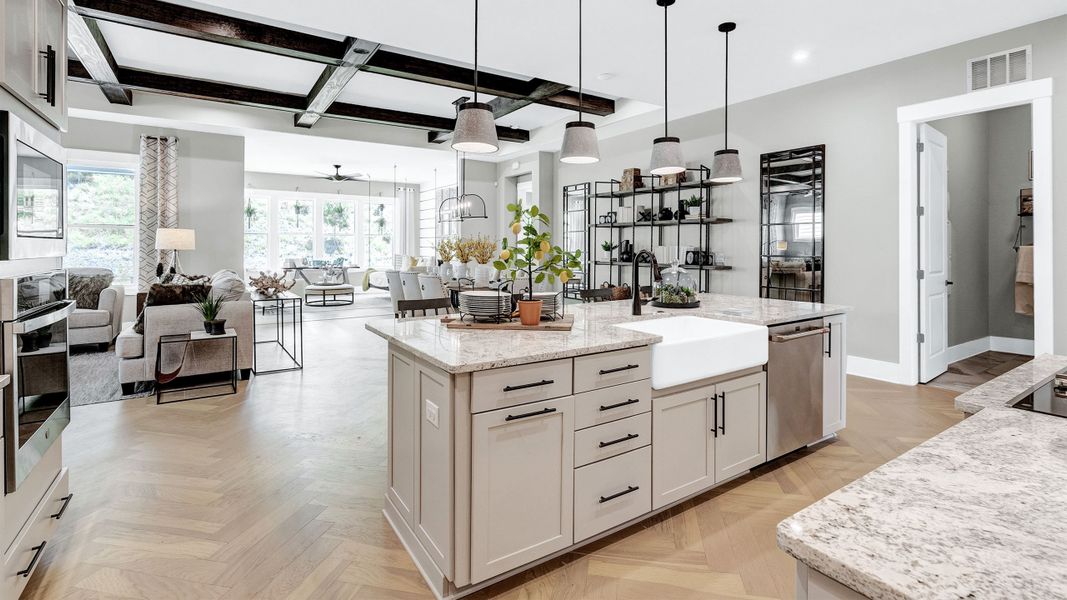
[[[730, 142], [742, 153], [747, 178], [714, 195], [716, 212], [736, 220], [715, 231], [712, 250], [724, 252], [735, 270], [720, 273], [714, 289], [758, 291], [760, 154], [825, 143], [826, 298], [855, 307], [848, 330], [853, 354], [897, 362], [896, 109], [961, 94], [967, 59], [1024, 45], [1033, 46], [1033, 77], [1051, 77], [1056, 89], [1067, 90], [1067, 17], [1058, 17], [732, 106]], [[1054, 186], [1067, 190], [1067, 93], [1053, 98], [1053, 114], [1060, 151], [1053, 157]], [[659, 131], [652, 126], [602, 140], [604, 159], [598, 164], [560, 164], [557, 199], [564, 185], [618, 178], [626, 167], [647, 170]], [[671, 132], [682, 138], [690, 167], [711, 164], [722, 146], [721, 110], [679, 120]], [[1054, 203], [1054, 224], [1064, 230], [1067, 200]], [[1067, 259], [1056, 263], [1054, 274], [1055, 310], [1067, 314]], [[1057, 322], [1055, 340], [1056, 348], [1067, 351], [1067, 319]]]

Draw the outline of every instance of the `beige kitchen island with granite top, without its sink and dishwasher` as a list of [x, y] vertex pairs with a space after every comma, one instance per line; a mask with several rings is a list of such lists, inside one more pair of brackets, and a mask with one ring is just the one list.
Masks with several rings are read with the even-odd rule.
[[653, 390], [663, 337], [617, 325], [699, 316], [766, 340], [767, 326], [837, 323], [815, 360], [831, 374], [822, 430], [844, 426], [846, 307], [700, 299], [641, 316], [628, 301], [571, 305], [571, 331], [367, 323], [389, 343], [385, 515], [434, 595], [471, 594], [766, 462], [763, 364]]

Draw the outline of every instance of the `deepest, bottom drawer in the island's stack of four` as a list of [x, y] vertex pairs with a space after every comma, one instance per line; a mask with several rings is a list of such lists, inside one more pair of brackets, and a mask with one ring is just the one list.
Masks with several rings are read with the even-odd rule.
[[574, 541], [652, 510], [652, 448], [644, 446], [574, 471]]

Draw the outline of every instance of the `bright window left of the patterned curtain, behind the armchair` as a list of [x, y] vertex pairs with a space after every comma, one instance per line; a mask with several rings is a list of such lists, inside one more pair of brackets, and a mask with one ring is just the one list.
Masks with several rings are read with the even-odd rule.
[[138, 279], [138, 193], [133, 169], [67, 168], [67, 267], [111, 269], [114, 283]]

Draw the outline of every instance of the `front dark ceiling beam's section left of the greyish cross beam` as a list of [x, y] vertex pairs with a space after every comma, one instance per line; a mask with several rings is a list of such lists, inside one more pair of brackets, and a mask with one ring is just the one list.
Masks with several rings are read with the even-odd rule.
[[345, 53], [343, 40], [157, 0], [79, 0], [75, 10], [93, 19], [337, 66]]

